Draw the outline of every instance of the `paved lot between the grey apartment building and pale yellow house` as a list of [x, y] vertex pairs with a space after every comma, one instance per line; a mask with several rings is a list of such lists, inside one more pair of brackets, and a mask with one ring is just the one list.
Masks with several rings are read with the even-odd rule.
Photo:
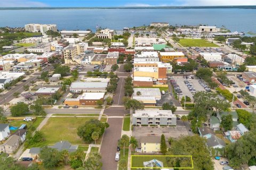
[[161, 137], [164, 134], [165, 138], [178, 139], [181, 135], [188, 135], [188, 131], [185, 126], [182, 127], [147, 127], [147, 126], [133, 126], [132, 136], [140, 139], [141, 137], [156, 136]]

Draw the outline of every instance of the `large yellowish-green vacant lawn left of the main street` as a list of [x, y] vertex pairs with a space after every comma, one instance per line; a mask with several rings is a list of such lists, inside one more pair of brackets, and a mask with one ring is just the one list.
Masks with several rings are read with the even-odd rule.
[[42, 132], [45, 136], [45, 145], [54, 144], [60, 140], [67, 140], [73, 144], [84, 144], [84, 141], [78, 137], [77, 128], [91, 117], [51, 117], [43, 126]]

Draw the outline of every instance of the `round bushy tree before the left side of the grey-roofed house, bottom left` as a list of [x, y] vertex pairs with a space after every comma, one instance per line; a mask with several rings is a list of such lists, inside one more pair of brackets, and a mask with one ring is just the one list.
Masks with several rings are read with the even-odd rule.
[[61, 155], [57, 149], [43, 147], [40, 150], [39, 157], [43, 160], [43, 166], [46, 169], [54, 169], [58, 166]]

